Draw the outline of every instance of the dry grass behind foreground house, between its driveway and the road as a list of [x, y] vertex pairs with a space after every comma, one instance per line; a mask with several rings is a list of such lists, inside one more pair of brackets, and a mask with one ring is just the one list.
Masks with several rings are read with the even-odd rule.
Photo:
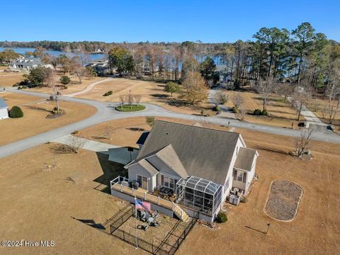
[[[193, 125], [196, 123], [192, 120], [182, 120], [174, 118], [156, 117], [157, 120], [169, 120], [176, 123]], [[219, 130], [229, 130], [229, 128], [220, 125], [211, 125], [209, 123], [200, 123], [205, 128], [217, 128]], [[112, 128], [111, 140], [108, 140], [107, 130]], [[136, 142], [143, 131], [151, 128], [145, 122], [145, 117], [124, 118], [121, 120], [110, 120], [100, 123], [84, 130], [80, 130], [78, 135], [89, 137], [91, 140], [106, 142], [111, 145], [137, 147]]]

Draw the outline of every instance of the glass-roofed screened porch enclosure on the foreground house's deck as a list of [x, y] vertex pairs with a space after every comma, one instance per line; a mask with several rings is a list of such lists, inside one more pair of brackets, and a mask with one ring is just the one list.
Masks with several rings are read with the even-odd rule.
[[176, 203], [206, 215], [214, 215], [222, 200], [222, 186], [189, 176], [176, 183]]

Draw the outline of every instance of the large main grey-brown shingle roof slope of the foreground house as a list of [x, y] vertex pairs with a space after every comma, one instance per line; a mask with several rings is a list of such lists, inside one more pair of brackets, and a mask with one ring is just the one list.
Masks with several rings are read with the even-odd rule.
[[157, 120], [136, 161], [171, 145], [188, 176], [224, 184], [239, 134]]

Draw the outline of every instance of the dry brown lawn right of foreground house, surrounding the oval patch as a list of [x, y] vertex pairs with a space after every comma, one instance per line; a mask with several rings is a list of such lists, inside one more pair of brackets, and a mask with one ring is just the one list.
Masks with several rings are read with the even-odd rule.
[[[303, 161], [286, 154], [293, 149], [293, 139], [289, 137], [237, 131], [248, 147], [259, 151], [259, 181], [248, 203], [227, 205], [227, 223], [215, 231], [196, 226], [178, 254], [337, 254], [340, 145], [312, 142], [314, 159]], [[263, 212], [275, 180], [292, 181], [304, 191], [292, 222], [278, 222]], [[271, 222], [268, 234], [254, 230], [266, 232], [267, 222]]]

